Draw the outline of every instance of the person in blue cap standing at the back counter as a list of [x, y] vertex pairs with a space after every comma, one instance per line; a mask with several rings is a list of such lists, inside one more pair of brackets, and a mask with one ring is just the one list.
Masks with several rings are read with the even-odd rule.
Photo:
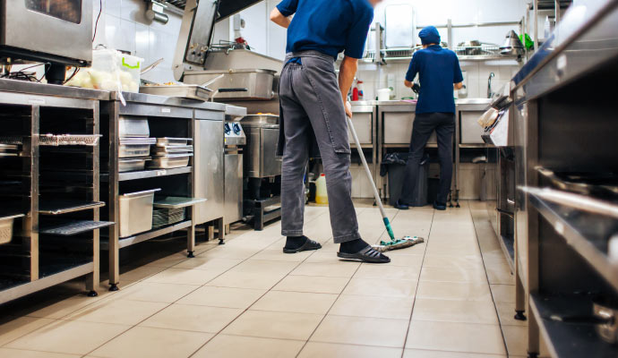
[[416, 51], [406, 73], [405, 85], [414, 86], [418, 74], [420, 91], [416, 104], [416, 117], [410, 141], [406, 175], [397, 201], [398, 209], [408, 209], [414, 201], [416, 180], [425, 145], [436, 132], [438, 156], [440, 158], [440, 184], [433, 208], [446, 209], [446, 201], [451, 192], [452, 143], [455, 132], [455, 99], [453, 90], [463, 88], [463, 75], [459, 59], [454, 52], [440, 46], [440, 33], [428, 26], [418, 34], [423, 49]]

